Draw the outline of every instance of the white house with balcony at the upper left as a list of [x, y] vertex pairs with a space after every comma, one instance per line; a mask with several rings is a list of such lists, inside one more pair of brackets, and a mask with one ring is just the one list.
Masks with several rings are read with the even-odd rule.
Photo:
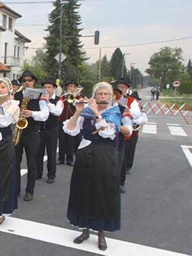
[[31, 42], [15, 29], [15, 21], [20, 17], [19, 13], [0, 2], [0, 76], [10, 80], [19, 78], [25, 43]]

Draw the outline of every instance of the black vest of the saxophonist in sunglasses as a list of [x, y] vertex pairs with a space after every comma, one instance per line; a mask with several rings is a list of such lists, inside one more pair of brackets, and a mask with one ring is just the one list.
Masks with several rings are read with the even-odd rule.
[[[21, 90], [20, 92], [17, 92], [15, 94], [15, 99], [17, 101], [20, 101], [19, 107], [22, 103], [22, 98], [23, 98], [23, 94], [22, 94], [22, 90]], [[30, 99], [29, 102], [28, 102], [27, 110], [40, 111], [39, 100], [38, 99]], [[27, 117], [26, 119], [28, 120], [28, 126], [23, 130], [22, 133], [36, 133], [36, 132], [39, 132], [41, 122], [40, 121], [35, 121], [33, 119], [33, 117]]]

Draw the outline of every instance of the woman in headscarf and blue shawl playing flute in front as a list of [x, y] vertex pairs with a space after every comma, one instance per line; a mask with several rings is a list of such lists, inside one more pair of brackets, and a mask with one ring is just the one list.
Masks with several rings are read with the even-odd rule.
[[[112, 105], [113, 89], [100, 82], [93, 87], [88, 105], [76, 105], [76, 113], [65, 121], [63, 130], [70, 135], [83, 133], [77, 149], [70, 182], [67, 218], [72, 225], [84, 228], [74, 240], [81, 244], [90, 237], [89, 229], [98, 231], [98, 247], [106, 250], [104, 230], [120, 230], [120, 189], [116, 136], [121, 114]], [[83, 99], [82, 99], [83, 101]]]

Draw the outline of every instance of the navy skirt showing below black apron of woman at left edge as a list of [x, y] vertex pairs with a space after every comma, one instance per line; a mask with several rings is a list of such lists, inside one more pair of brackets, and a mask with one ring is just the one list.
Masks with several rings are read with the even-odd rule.
[[18, 208], [17, 201], [17, 173], [15, 163], [12, 165], [10, 180], [10, 198], [8, 201], [0, 201], [0, 216], [10, 215]]

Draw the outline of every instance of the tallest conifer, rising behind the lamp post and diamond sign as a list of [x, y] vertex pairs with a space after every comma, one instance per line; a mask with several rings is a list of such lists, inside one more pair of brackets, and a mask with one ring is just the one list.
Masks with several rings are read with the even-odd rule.
[[[47, 27], [49, 35], [45, 37], [47, 42], [47, 71], [52, 75], [58, 74], [59, 64], [54, 57], [60, 51], [60, 8], [62, 6], [62, 47], [61, 51], [67, 58], [62, 63], [63, 80], [71, 78], [77, 79], [79, 76], [79, 66], [84, 61], [83, 45], [79, 37], [82, 29], [81, 16], [79, 8], [81, 4], [77, 0], [70, 0], [68, 3], [62, 3], [60, 0], [54, 1], [54, 10], [49, 14], [49, 22]], [[70, 38], [73, 36], [73, 38]], [[66, 38], [65, 38], [66, 37]]]

